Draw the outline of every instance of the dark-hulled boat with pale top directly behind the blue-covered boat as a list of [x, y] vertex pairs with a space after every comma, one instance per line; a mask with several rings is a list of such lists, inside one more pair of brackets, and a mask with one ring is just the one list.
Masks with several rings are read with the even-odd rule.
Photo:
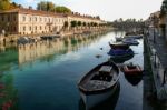
[[111, 49], [124, 49], [124, 50], [129, 49], [129, 44], [122, 42], [116, 42], [116, 43], [109, 42], [109, 46]]

